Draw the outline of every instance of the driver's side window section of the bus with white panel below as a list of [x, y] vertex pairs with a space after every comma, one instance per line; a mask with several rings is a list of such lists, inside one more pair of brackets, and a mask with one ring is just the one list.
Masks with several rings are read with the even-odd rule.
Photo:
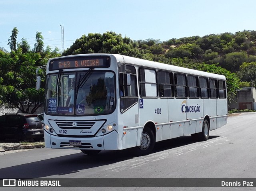
[[[129, 71], [130, 73], [126, 73]], [[119, 149], [131, 148], [138, 146], [138, 135], [141, 134], [139, 126], [139, 103], [137, 91], [137, 76], [133, 66], [121, 65], [119, 68], [119, 98], [120, 98], [120, 115], [119, 121], [122, 122], [124, 134], [119, 144]], [[120, 123], [121, 125], [121, 123]], [[132, 128], [132, 129], [129, 129]]]

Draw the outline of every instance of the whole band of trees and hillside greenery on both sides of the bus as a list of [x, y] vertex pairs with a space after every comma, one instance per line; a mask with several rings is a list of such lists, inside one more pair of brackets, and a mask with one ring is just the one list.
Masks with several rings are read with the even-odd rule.
[[[0, 47], [0, 103], [22, 108], [24, 100], [43, 101], [43, 89], [36, 92], [36, 68], [51, 57], [61, 54], [58, 49], [44, 49], [42, 33], [36, 33], [34, 48], [26, 39], [17, 44], [18, 29], [10, 36], [11, 52]], [[82, 53], [117, 53], [226, 76], [228, 98], [238, 87], [256, 85], [256, 31], [210, 34], [158, 39], [132, 40], [115, 32], [89, 33], [77, 39], [62, 55]], [[157, 63], [156, 63], [157, 64]], [[44, 75], [43, 71], [40, 71]], [[44, 83], [43, 83], [44, 85]], [[36, 109], [36, 108], [35, 108]]]

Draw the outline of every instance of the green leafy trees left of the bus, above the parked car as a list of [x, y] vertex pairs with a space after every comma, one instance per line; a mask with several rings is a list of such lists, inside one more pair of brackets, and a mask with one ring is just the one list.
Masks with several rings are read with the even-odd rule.
[[[36, 69], [51, 57], [58, 57], [58, 49], [44, 46], [42, 33], [37, 32], [33, 51], [25, 38], [16, 47], [18, 29], [12, 30], [9, 41], [11, 52], [0, 50], [0, 104], [15, 106], [21, 112], [34, 113], [44, 102], [44, 89], [36, 91]], [[42, 70], [39, 74], [44, 76]], [[44, 79], [42, 80], [42, 86]], [[27, 101], [25, 104], [24, 101]]]

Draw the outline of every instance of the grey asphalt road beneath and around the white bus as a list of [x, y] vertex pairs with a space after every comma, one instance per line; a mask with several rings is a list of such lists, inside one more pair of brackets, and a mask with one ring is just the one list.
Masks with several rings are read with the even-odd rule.
[[[191, 136], [183, 136], [157, 143], [148, 156], [137, 157], [131, 150], [122, 150], [104, 151], [92, 157], [79, 150], [46, 148], [5, 154], [0, 156], [0, 178], [256, 178], [255, 135], [256, 113], [236, 114], [228, 117], [228, 124], [211, 131], [208, 141], [195, 142]], [[58, 188], [36, 188], [52, 189]], [[94, 187], [86, 190], [113, 189]], [[116, 190], [169, 188], [120, 187]], [[255, 187], [179, 187], [172, 190], [255, 190]]]

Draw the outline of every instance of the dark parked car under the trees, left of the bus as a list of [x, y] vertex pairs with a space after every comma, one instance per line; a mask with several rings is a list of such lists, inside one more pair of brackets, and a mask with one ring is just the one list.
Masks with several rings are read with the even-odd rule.
[[16, 113], [0, 116], [0, 139], [39, 141], [43, 137], [44, 129], [37, 114]]

